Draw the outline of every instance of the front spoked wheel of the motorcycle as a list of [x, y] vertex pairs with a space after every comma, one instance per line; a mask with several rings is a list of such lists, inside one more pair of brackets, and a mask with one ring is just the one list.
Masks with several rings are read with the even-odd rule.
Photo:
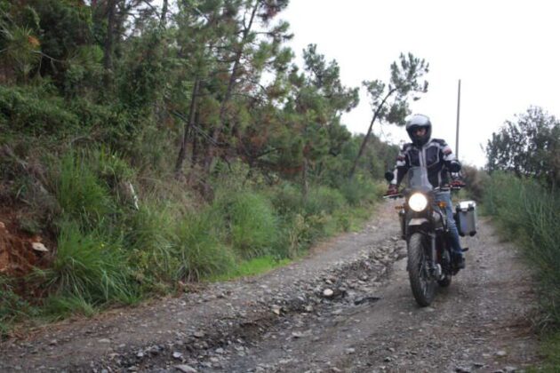
[[423, 234], [412, 234], [408, 240], [408, 277], [412, 295], [420, 306], [429, 306], [436, 295], [436, 281], [429, 274]]

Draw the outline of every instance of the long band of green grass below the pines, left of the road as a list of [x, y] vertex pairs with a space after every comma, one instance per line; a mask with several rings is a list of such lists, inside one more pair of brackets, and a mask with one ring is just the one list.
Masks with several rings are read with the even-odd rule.
[[316, 182], [304, 194], [296, 182], [267, 184], [258, 173], [246, 179], [234, 164], [213, 181], [213, 201], [204, 202], [169, 175], [164, 183], [157, 175], [144, 181], [108, 147], [48, 159], [45, 226], [57, 244], [50, 266], [21, 280], [26, 291], [0, 276], [4, 336], [21, 321], [89, 317], [172, 294], [180, 282], [228, 281], [285, 266], [321, 239], [360, 229], [382, 189], [372, 180], [345, 181], [342, 189]]

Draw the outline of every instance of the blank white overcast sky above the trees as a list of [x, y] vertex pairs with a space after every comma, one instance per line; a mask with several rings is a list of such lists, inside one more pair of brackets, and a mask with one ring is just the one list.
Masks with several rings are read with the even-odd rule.
[[[550, 0], [292, 0], [280, 18], [291, 24], [298, 55], [308, 44], [337, 60], [342, 82], [388, 82], [400, 52], [427, 60], [428, 94], [412, 111], [430, 116], [433, 136], [455, 149], [457, 83], [461, 79], [460, 160], [483, 166], [492, 131], [530, 105], [560, 116], [560, 3]], [[359, 107], [344, 115], [354, 133], [372, 118], [361, 92]], [[380, 134], [380, 123], [374, 125]], [[384, 139], [406, 132], [384, 125]], [[383, 138], [383, 137], [382, 137]]]

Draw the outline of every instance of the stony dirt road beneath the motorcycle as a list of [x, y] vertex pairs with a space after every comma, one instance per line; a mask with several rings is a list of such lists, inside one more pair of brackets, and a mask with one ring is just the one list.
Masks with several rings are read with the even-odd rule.
[[538, 365], [532, 281], [486, 220], [468, 267], [416, 306], [392, 202], [357, 234], [216, 283], [0, 345], [0, 371], [514, 371]]

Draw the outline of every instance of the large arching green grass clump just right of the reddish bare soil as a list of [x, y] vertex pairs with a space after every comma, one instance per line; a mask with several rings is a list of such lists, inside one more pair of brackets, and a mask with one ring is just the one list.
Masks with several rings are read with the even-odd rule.
[[[138, 295], [124, 251], [99, 234], [84, 234], [69, 222], [61, 225], [52, 266], [39, 274], [53, 296], [82, 299], [91, 306], [131, 303]], [[76, 302], [67, 304], [76, 305]]]

